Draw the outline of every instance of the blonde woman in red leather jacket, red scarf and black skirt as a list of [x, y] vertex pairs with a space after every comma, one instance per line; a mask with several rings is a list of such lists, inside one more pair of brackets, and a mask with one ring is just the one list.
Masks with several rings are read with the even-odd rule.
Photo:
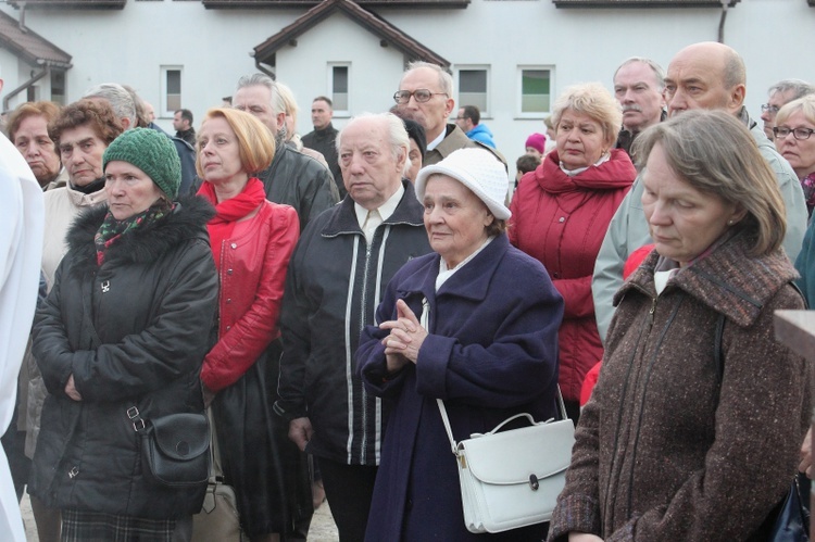
[[300, 235], [297, 212], [266, 201], [254, 175], [272, 163], [275, 141], [248, 113], [212, 109], [198, 136], [199, 194], [215, 205], [208, 224], [218, 270], [217, 341], [201, 369], [213, 401], [224, 476], [235, 487], [252, 542], [279, 540], [292, 520], [286, 457], [297, 448], [272, 405], [280, 356], [277, 319], [289, 257]]

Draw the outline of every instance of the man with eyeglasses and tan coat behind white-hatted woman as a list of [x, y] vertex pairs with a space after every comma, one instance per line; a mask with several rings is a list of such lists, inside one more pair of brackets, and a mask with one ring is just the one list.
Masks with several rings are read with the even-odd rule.
[[425, 128], [427, 152], [423, 165], [437, 164], [459, 149], [478, 148], [492, 152], [506, 166], [506, 160], [498, 151], [469, 139], [459, 126], [448, 123], [455, 108], [453, 77], [441, 66], [411, 62], [393, 100], [398, 116], [415, 121]]

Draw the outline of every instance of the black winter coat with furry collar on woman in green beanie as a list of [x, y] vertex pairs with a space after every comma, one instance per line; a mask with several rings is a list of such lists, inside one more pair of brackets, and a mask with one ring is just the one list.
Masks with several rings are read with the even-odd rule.
[[[202, 412], [199, 373], [217, 303], [205, 229], [213, 211], [193, 199], [125, 234], [97, 265], [93, 236], [106, 206], [80, 215], [54, 287], [37, 311], [34, 354], [50, 395], [30, 491], [50, 507], [173, 519], [200, 511], [205, 488], [147, 479], [128, 419]], [[90, 320], [101, 345], [91, 345]], [[82, 401], [64, 392], [73, 375]]]

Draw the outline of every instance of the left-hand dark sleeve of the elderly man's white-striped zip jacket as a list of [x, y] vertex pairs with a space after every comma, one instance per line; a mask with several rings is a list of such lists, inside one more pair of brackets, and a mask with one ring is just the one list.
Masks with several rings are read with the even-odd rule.
[[280, 307], [283, 355], [277, 383], [279, 399], [275, 403], [275, 412], [289, 420], [308, 416], [305, 364], [311, 356], [309, 319], [313, 311], [305, 287], [308, 274], [305, 259], [309, 252], [309, 239], [314, 235], [319, 235], [314, 226], [312, 224], [305, 229], [291, 256]]

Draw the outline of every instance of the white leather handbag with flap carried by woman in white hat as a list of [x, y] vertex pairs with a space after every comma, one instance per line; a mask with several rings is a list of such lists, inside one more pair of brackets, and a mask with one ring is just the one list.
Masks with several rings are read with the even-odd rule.
[[[552, 519], [557, 495], [575, 443], [575, 425], [563, 419], [535, 421], [516, 414], [486, 434], [455, 442], [444, 402], [437, 400], [453, 455], [459, 464], [464, 522], [471, 532], [501, 532]], [[510, 421], [526, 417], [529, 427], [500, 431]]]

